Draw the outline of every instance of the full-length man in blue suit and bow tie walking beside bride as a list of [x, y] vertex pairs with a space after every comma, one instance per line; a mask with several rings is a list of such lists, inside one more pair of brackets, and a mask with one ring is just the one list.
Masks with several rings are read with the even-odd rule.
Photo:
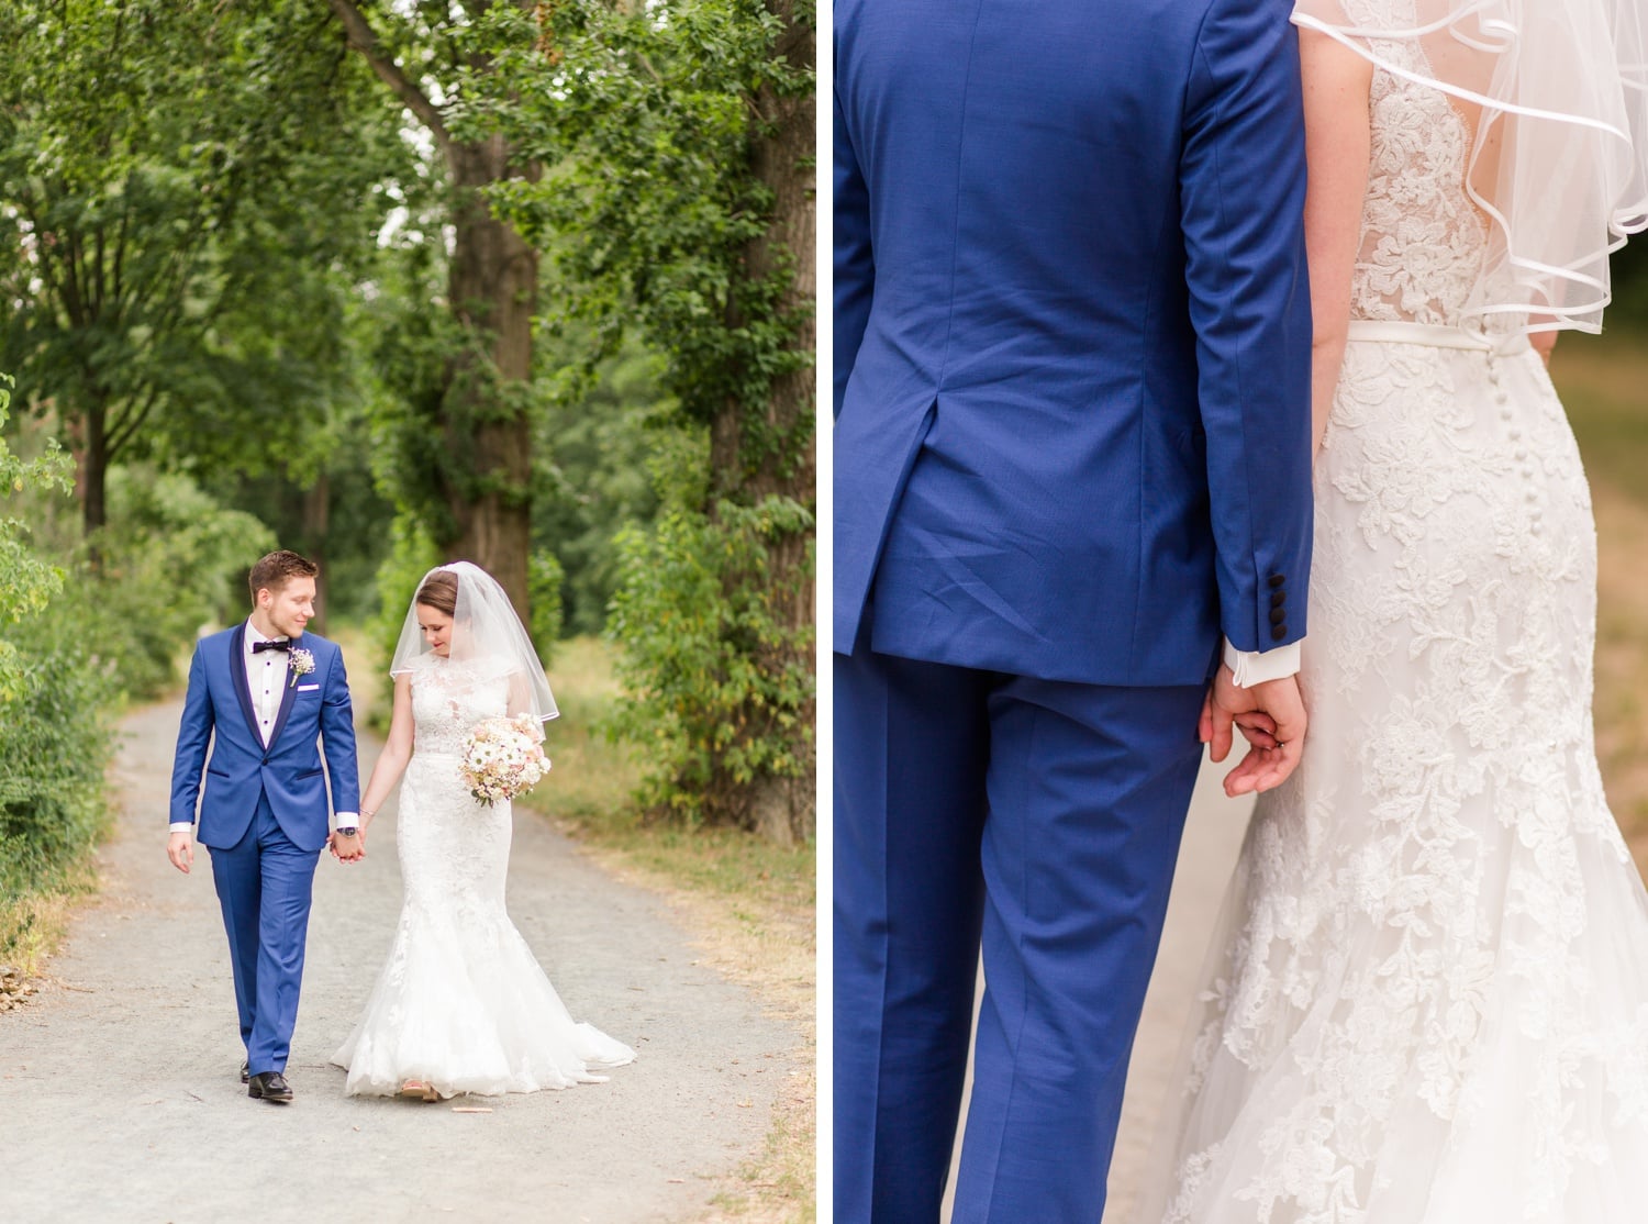
[[[315, 865], [328, 842], [346, 862], [361, 857], [361, 779], [343, 652], [303, 633], [315, 616], [316, 573], [295, 552], [272, 552], [252, 567], [250, 618], [194, 647], [171, 766], [166, 853], [188, 873], [198, 809], [229, 932], [246, 1046], [241, 1081], [247, 1096], [277, 1104], [292, 1100], [285, 1069]], [[328, 832], [331, 809], [336, 834]]]

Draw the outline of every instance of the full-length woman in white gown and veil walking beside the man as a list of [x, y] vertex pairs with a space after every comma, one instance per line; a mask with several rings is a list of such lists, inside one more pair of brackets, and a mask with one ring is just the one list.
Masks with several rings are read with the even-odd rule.
[[458, 773], [485, 718], [555, 717], [509, 596], [456, 562], [425, 575], [391, 672], [389, 741], [361, 799], [363, 834], [405, 774], [396, 842], [404, 901], [389, 960], [333, 1063], [346, 1092], [536, 1092], [605, 1079], [630, 1046], [572, 1020], [504, 909], [511, 806], [478, 802]]

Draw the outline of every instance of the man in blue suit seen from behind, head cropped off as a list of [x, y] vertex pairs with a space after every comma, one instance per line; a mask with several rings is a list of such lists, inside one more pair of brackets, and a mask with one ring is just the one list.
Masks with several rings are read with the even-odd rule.
[[1289, 8], [836, 3], [839, 1221], [938, 1217], [981, 946], [954, 1219], [1098, 1221], [1201, 740], [1297, 763]]

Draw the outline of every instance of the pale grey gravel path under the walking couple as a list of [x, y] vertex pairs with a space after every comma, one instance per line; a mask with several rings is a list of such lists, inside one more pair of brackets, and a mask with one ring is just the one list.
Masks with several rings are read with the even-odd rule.
[[[328, 1059], [400, 906], [389, 806], [363, 863], [328, 855], [316, 871], [287, 1067], [297, 1102], [249, 1100], [211, 867], [199, 853], [185, 878], [165, 855], [178, 715], [162, 703], [125, 718], [104, 891], [40, 997], [0, 1015], [0, 1219], [687, 1221], [761, 1148], [798, 1033], [699, 965], [662, 899], [537, 819], [516, 825], [511, 916], [574, 1016], [634, 1046], [633, 1066], [532, 1096], [343, 1096]], [[363, 740], [363, 783], [376, 750]]]

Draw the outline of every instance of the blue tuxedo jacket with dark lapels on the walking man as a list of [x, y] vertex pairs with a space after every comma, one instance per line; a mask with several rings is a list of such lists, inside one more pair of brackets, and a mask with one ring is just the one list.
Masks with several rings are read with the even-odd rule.
[[171, 764], [170, 819], [193, 820], [198, 799], [201, 845], [227, 850], [246, 835], [259, 799], [267, 797], [292, 843], [320, 850], [330, 832], [330, 809], [316, 741], [325, 746], [333, 806], [343, 812], [361, 806], [343, 651], [311, 633], [293, 642], [315, 656], [315, 670], [287, 685], [275, 731], [264, 748], [246, 687], [244, 636], [242, 623], [194, 646]]

